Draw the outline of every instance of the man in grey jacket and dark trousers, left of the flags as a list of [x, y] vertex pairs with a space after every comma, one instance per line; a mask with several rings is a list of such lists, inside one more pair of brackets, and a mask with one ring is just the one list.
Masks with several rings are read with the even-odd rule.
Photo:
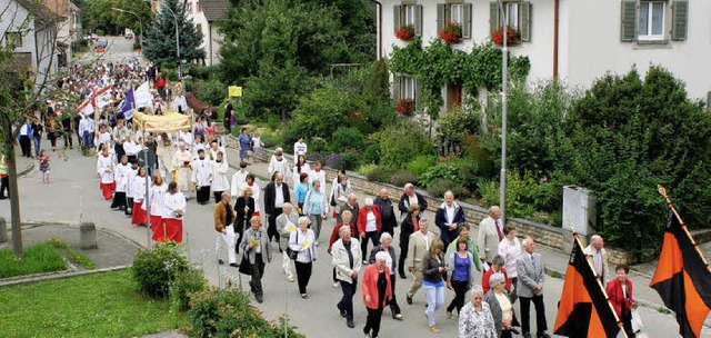
[[533, 252], [535, 242], [531, 237], [523, 240], [523, 252], [519, 255], [515, 268], [519, 272], [517, 281], [517, 295], [521, 299], [521, 329], [523, 338], [531, 338], [531, 301], [535, 306], [535, 327], [538, 329], [537, 338], [550, 338], [545, 332], [548, 325], [545, 322], [545, 307], [543, 304], [543, 260], [541, 255]]

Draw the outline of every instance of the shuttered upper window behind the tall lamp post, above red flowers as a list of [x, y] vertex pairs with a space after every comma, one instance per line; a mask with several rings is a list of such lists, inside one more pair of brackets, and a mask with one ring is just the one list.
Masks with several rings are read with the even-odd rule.
[[503, 12], [498, 1], [489, 4], [489, 24], [491, 31], [498, 30], [503, 24], [513, 27], [521, 32], [521, 41], [531, 41], [531, 2], [530, 1], [504, 1]]

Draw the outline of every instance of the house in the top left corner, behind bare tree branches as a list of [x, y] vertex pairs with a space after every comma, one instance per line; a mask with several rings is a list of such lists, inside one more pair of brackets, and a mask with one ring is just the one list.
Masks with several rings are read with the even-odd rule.
[[0, 0], [2, 43], [12, 44], [18, 71], [40, 87], [58, 69], [57, 17], [31, 0]]

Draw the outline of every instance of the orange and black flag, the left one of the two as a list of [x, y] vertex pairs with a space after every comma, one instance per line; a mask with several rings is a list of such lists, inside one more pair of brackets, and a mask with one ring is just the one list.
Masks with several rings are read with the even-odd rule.
[[573, 233], [573, 249], [565, 270], [553, 332], [564, 337], [618, 337], [624, 335], [602, 285]]

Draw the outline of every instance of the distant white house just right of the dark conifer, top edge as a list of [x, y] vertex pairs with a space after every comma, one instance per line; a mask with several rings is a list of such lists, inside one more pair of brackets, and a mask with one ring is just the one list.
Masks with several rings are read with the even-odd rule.
[[202, 33], [201, 48], [206, 51], [206, 66], [220, 63], [220, 44], [222, 36], [218, 32], [217, 22], [227, 16], [227, 0], [187, 0], [186, 13]]

